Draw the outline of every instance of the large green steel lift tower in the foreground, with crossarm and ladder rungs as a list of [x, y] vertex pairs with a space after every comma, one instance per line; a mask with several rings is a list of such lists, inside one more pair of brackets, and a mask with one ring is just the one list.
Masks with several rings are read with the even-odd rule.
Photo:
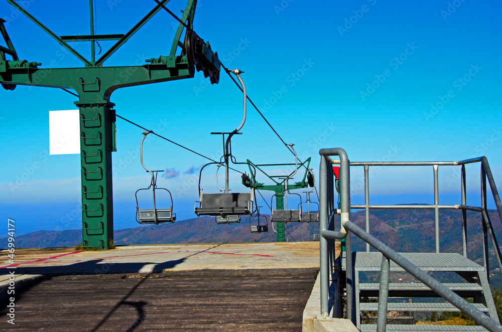
[[[7, 47], [0, 46], [0, 83], [6, 90], [16, 85], [32, 85], [73, 89], [78, 95], [75, 105], [80, 113], [81, 189], [82, 189], [82, 245], [88, 248], [107, 249], [113, 241], [113, 202], [111, 152], [115, 147], [115, 111], [110, 102], [113, 91], [123, 87], [191, 78], [202, 70], [211, 83], [218, 83], [220, 62], [209, 43], [204, 43], [193, 31], [193, 18], [197, 0], [188, 0], [183, 15], [177, 18], [166, 8], [169, 0], [154, 0], [157, 5], [125, 34], [95, 35], [93, 0], [89, 0], [90, 34], [58, 36], [15, 0], [9, 4], [27, 16], [37, 26], [84, 64], [81, 68], [42, 69], [39, 62], [19, 60], [7, 30], [6, 21], [0, 21], [0, 33]], [[146, 59], [143, 66], [105, 67], [103, 63], [128, 41], [160, 10], [166, 10], [179, 21], [179, 27], [167, 56]], [[186, 30], [185, 30], [186, 29]], [[186, 31], [182, 39], [183, 31]], [[113, 41], [115, 44], [95, 59], [95, 43]], [[88, 60], [68, 42], [90, 42], [91, 59]], [[178, 47], [181, 52], [176, 55]], [[12, 57], [7, 60], [6, 55]]]

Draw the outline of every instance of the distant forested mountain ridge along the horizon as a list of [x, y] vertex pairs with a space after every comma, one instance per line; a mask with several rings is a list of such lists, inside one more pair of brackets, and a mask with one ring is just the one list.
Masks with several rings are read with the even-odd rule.
[[[468, 251], [473, 255], [482, 250], [482, 228], [479, 213], [467, 212]], [[489, 210], [495, 227], [495, 234], [502, 232], [496, 210]], [[201, 217], [177, 221], [174, 224], [148, 225], [114, 231], [114, 243], [128, 244], [169, 244], [169, 243], [224, 243], [224, 242], [275, 242], [270, 216], [266, 215], [268, 233], [251, 233], [249, 217], [243, 217], [240, 224], [214, 222], [213, 217]], [[370, 234], [398, 252], [433, 251], [434, 211], [433, 210], [370, 210]], [[461, 211], [440, 211], [441, 251], [461, 252]], [[351, 214], [351, 221], [364, 229], [364, 211]], [[252, 219], [256, 223], [256, 218]], [[318, 223], [288, 223], [288, 241], [312, 241], [313, 228]], [[318, 227], [315, 228], [318, 232]], [[16, 236], [19, 248], [73, 247], [82, 241], [81, 230], [37, 231]], [[288, 233], [289, 232], [289, 233]], [[0, 248], [7, 248], [7, 239], [0, 239]], [[365, 244], [354, 236], [355, 250], [364, 250]]]

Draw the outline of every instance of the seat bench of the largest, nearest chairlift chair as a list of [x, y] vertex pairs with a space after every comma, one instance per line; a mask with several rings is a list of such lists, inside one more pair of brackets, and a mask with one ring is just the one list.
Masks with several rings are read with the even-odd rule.
[[224, 219], [229, 216], [250, 215], [253, 212], [253, 193], [202, 194], [199, 203], [199, 207], [194, 209], [199, 217], [219, 216]]

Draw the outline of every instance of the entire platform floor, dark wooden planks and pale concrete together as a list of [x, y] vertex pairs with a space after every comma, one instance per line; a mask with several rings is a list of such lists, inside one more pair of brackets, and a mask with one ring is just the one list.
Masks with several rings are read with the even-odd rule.
[[0, 323], [8, 330], [352, 330], [316, 319], [319, 242], [17, 249], [13, 263], [7, 254], [0, 301], [15, 273], [17, 310], [16, 326]]

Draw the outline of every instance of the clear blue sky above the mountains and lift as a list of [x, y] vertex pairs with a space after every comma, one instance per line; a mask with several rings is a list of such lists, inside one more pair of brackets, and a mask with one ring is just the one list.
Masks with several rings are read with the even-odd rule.
[[[24, 3], [58, 35], [89, 31], [87, 1]], [[125, 33], [155, 6], [153, 1], [97, 3], [98, 34]], [[185, 4], [173, 0], [168, 7], [179, 13]], [[242, 79], [250, 98], [287, 143], [296, 144], [300, 155], [312, 156], [315, 170], [318, 150], [324, 147], [342, 147], [352, 161], [485, 155], [495, 181], [502, 184], [501, 7], [495, 1], [472, 0], [202, 0], [194, 29], [211, 43], [226, 67], [245, 71]], [[0, 3], [0, 17], [7, 21], [21, 59], [41, 62], [45, 68], [81, 66], [5, 1]], [[105, 65], [137, 65], [168, 55], [173, 26], [177, 24], [169, 14], [159, 12]], [[110, 44], [101, 46], [106, 50]], [[75, 48], [86, 56], [90, 53], [84, 42]], [[79, 228], [79, 156], [46, 153], [49, 111], [75, 108], [76, 97], [59, 89], [24, 86], [0, 94], [2, 216], [18, 218], [25, 232]], [[213, 158], [222, 154], [221, 137], [209, 133], [231, 131], [242, 118], [242, 94], [226, 74], [217, 85], [196, 73], [192, 79], [119, 89], [110, 100], [118, 115]], [[149, 184], [135, 154], [142, 131], [117, 119], [115, 229], [136, 225], [134, 192]], [[238, 161], [294, 162], [249, 103], [241, 132], [232, 140]], [[195, 216], [198, 175], [190, 171], [205, 162], [160, 138], [145, 147], [148, 167], [179, 174], [159, 180], [159, 186], [172, 191], [179, 218]], [[203, 177], [207, 192], [216, 189], [214, 171]], [[455, 172], [440, 168], [444, 203], [455, 199], [458, 204], [460, 182]], [[479, 169], [467, 172], [475, 192]], [[391, 204], [433, 203], [432, 168], [383, 169], [374, 174], [370, 187], [374, 203], [384, 198]], [[353, 170], [354, 203], [362, 195], [355, 187], [360, 177], [360, 170]], [[233, 191], [243, 190], [238, 178], [231, 175]], [[397, 198], [401, 192], [408, 196]], [[472, 194], [470, 203], [478, 201]]]

